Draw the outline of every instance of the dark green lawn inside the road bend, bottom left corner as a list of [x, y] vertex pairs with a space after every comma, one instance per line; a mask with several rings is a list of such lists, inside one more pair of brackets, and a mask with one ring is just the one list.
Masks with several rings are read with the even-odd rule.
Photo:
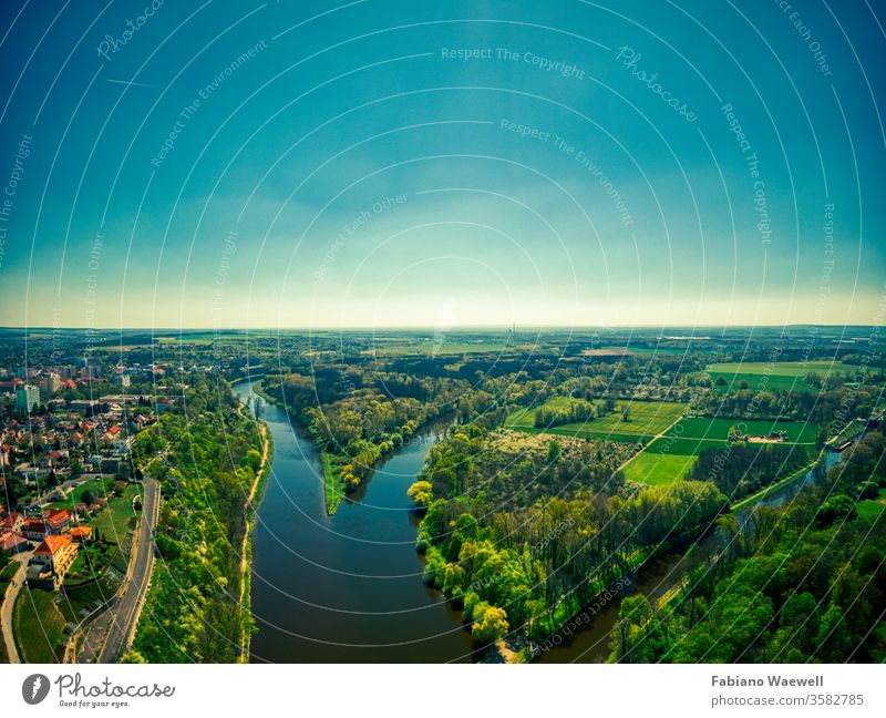
[[54, 591], [24, 586], [16, 601], [16, 639], [25, 663], [59, 663], [63, 653], [64, 616]]

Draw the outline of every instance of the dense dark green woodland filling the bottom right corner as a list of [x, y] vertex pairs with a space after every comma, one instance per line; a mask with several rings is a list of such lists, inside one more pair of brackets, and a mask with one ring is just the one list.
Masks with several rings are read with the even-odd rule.
[[886, 485], [886, 438], [866, 435], [792, 502], [723, 519], [667, 607], [621, 605], [612, 660], [844, 663], [886, 659], [886, 523], [856, 514]]

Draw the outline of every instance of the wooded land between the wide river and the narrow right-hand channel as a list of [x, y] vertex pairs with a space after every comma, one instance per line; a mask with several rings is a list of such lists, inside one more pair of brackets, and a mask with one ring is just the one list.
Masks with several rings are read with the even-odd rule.
[[710, 483], [626, 485], [616, 468], [629, 451], [476, 425], [431, 450], [411, 489], [426, 506], [425, 579], [463, 607], [477, 643], [548, 635], [662, 542], [722, 511]]

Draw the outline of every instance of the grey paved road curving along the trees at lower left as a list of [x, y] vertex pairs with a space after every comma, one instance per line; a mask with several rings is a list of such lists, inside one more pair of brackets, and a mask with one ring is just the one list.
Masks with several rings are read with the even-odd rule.
[[159, 512], [159, 485], [154, 479], [144, 481], [142, 521], [133, 545], [133, 555], [122, 586], [122, 595], [89, 627], [80, 659], [116, 663], [130, 646], [142, 613], [151, 572], [154, 568], [154, 532]]

